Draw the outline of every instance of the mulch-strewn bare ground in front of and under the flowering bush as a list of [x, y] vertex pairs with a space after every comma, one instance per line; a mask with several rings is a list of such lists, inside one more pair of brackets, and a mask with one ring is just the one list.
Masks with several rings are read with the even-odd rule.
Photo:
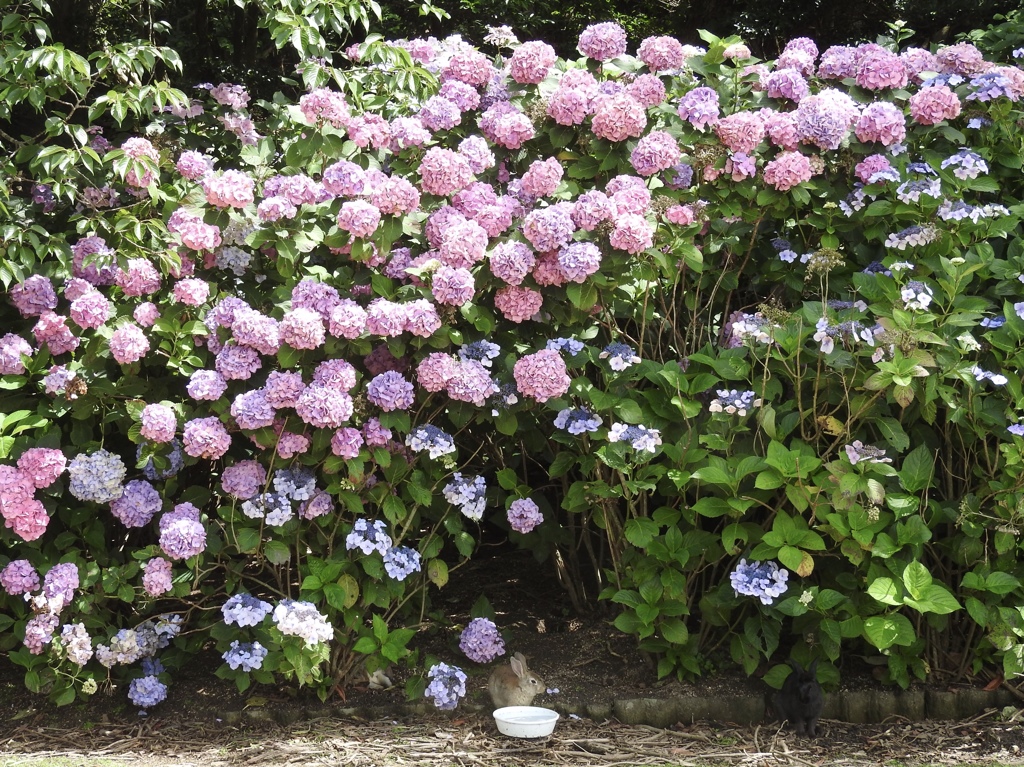
[[[553, 576], [527, 557], [459, 572], [436, 606], [464, 623], [469, 606], [485, 594], [507, 633], [509, 651], [525, 652], [548, 685], [559, 688], [557, 695], [539, 698], [542, 706], [572, 711], [594, 700], [720, 698], [766, 690], [756, 679], [722, 674], [695, 685], [658, 682], [630, 638], [610, 628], [606, 617], [575, 616]], [[497, 582], [488, 583], [485, 573]], [[1015, 709], [964, 722], [824, 721], [814, 740], [797, 738], [770, 721], [656, 729], [626, 726], [610, 715], [563, 717], [550, 738], [516, 740], [495, 728], [484, 692], [489, 667], [470, 668], [458, 650], [458, 634], [438, 630], [425, 635], [420, 647], [471, 674], [467, 700], [452, 716], [422, 701], [411, 707], [400, 670], [392, 674], [396, 688], [350, 689], [345, 701], [323, 705], [275, 687], [242, 695], [213, 676], [219, 658], [212, 651], [175, 676], [168, 699], [148, 716], [139, 716], [123, 689], [55, 709], [28, 693], [19, 671], [0, 656], [0, 766], [1024, 764], [1024, 731]], [[852, 659], [847, 664], [845, 684], [859, 689], [874, 684]]]

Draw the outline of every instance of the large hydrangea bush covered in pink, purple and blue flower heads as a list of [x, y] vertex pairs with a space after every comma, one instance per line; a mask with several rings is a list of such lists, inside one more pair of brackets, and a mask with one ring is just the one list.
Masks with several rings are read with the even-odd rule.
[[211, 640], [241, 689], [418, 665], [481, 520], [663, 675], [726, 640], [751, 673], [844, 643], [904, 685], [1020, 673], [1024, 72], [705, 39], [370, 39], [295, 100], [111, 91], [25, 139], [0, 644], [28, 685], [154, 706]]

